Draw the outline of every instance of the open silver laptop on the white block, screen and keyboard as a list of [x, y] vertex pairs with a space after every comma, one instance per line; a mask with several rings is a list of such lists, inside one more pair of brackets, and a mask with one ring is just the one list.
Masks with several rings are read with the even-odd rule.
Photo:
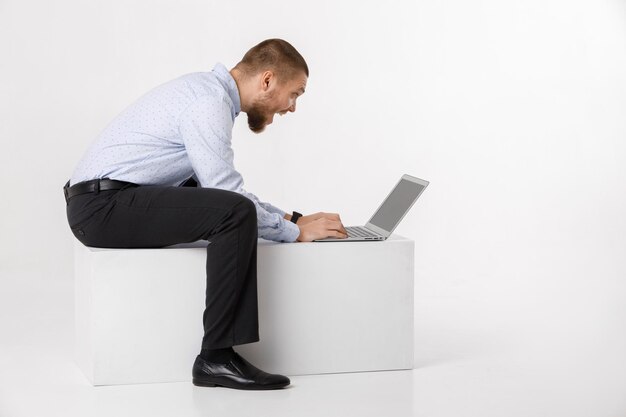
[[327, 237], [313, 242], [354, 242], [387, 239], [400, 220], [409, 212], [429, 182], [410, 175], [403, 175], [393, 187], [385, 201], [378, 207], [365, 226], [346, 227], [348, 237], [344, 239]]

